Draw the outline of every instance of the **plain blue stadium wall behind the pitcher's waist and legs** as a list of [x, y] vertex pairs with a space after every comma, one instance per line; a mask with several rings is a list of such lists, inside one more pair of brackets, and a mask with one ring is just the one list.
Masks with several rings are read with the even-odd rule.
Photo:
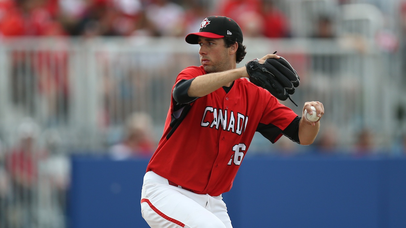
[[[148, 160], [73, 156], [69, 228], [148, 228]], [[406, 158], [244, 158], [223, 194], [234, 228], [405, 228]]]

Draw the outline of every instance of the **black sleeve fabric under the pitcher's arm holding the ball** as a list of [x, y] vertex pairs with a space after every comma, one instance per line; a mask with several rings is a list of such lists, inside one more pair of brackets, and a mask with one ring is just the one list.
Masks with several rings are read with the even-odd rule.
[[266, 139], [271, 143], [275, 143], [276, 138], [279, 134], [287, 136], [290, 140], [299, 142], [299, 122], [301, 117], [296, 117], [285, 130], [281, 130], [273, 124], [258, 124], [257, 132], [261, 133]]

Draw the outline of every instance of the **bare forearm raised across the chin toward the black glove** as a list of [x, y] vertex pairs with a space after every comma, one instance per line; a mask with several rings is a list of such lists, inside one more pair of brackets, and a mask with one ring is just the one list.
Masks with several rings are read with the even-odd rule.
[[242, 77], [248, 77], [245, 66], [232, 70], [200, 75], [190, 84], [188, 95], [191, 97], [203, 97]]

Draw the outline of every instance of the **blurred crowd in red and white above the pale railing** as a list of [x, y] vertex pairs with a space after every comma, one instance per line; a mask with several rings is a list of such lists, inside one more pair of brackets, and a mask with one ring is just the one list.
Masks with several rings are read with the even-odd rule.
[[[337, 0], [337, 4], [358, 2]], [[365, 1], [363, 1], [365, 2]], [[384, 1], [369, 0], [383, 8]], [[289, 37], [281, 0], [1, 0], [0, 36], [184, 36], [207, 15], [226, 15], [244, 35]], [[294, 4], [291, 3], [291, 4]], [[384, 9], [382, 9], [384, 11]], [[403, 10], [402, 10], [403, 12]], [[320, 33], [330, 37], [332, 14], [320, 15]]]

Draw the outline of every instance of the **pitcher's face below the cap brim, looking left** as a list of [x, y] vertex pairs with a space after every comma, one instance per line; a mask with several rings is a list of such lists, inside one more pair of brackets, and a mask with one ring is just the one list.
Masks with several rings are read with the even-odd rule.
[[233, 68], [229, 48], [222, 38], [199, 37], [200, 62], [207, 73], [220, 72]]

